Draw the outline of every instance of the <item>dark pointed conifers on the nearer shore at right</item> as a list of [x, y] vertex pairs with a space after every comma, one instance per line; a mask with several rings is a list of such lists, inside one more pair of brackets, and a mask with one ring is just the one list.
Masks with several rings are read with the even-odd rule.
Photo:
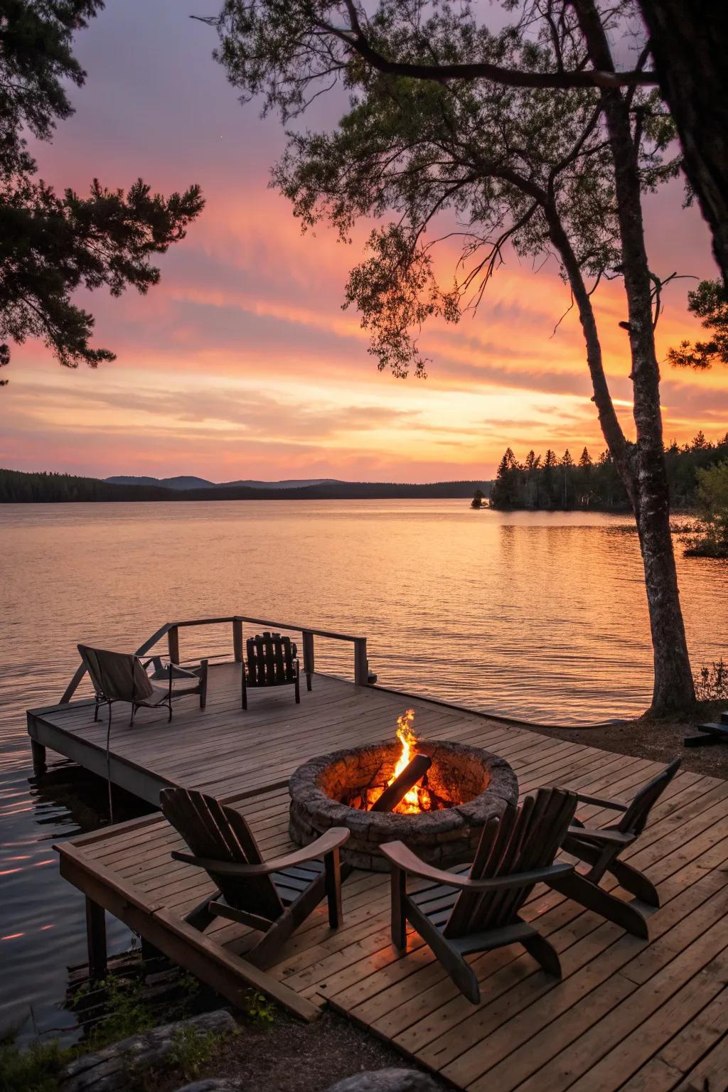
[[[728, 432], [716, 443], [699, 432], [692, 443], [675, 441], [665, 450], [672, 508], [692, 508], [697, 471], [728, 460]], [[529, 451], [520, 463], [508, 448], [490, 489], [491, 508], [558, 508], [622, 511], [630, 508], [624, 486], [608, 451], [592, 459], [584, 448], [577, 460], [569, 451], [561, 459], [549, 448], [545, 455]]]

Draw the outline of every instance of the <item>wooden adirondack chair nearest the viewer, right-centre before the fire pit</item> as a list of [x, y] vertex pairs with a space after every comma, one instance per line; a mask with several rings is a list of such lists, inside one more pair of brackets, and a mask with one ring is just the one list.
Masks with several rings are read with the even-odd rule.
[[[576, 796], [539, 788], [517, 809], [484, 827], [469, 873], [451, 873], [420, 860], [404, 842], [386, 842], [382, 853], [392, 866], [392, 940], [407, 945], [406, 923], [430, 946], [457, 988], [477, 1005], [480, 990], [465, 961], [469, 952], [490, 951], [516, 941], [545, 971], [561, 977], [556, 949], [518, 911], [535, 883], [573, 870], [553, 858], [576, 808]], [[407, 875], [431, 883], [407, 893]]]

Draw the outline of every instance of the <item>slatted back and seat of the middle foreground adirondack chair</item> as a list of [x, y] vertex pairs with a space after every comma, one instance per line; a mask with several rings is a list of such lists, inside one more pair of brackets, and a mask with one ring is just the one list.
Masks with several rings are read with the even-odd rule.
[[[552, 865], [575, 810], [576, 795], [561, 788], [539, 788], [517, 811], [509, 806], [500, 820], [491, 819], [484, 828], [470, 878], [512, 876]], [[444, 935], [463, 937], [508, 925], [533, 888], [530, 882], [503, 891], [462, 891]]]

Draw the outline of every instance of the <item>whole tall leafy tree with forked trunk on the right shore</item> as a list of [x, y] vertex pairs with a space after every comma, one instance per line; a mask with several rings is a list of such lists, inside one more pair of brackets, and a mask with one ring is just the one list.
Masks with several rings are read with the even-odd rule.
[[[348, 109], [331, 132], [295, 121], [273, 171], [305, 228], [342, 239], [375, 222], [351, 270], [380, 368], [423, 376], [418, 334], [431, 318], [477, 308], [506, 247], [553, 256], [576, 307], [593, 401], [634, 510], [654, 648], [653, 709], [689, 707], [694, 690], [669, 527], [654, 322], [660, 281], [649, 269], [642, 194], [679, 169], [675, 132], [647, 68], [636, 5], [509, 0], [500, 29], [449, 0], [227, 0], [212, 20], [217, 59], [243, 99], [289, 123], [337, 84]], [[629, 31], [633, 64], [611, 41]], [[452, 277], [434, 253], [452, 252]], [[633, 428], [628, 438], [604, 369], [592, 304], [605, 277], [625, 290]]]

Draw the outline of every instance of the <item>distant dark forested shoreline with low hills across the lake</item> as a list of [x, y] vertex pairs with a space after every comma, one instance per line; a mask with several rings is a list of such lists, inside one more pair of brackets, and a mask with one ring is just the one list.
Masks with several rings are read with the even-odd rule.
[[153, 500], [386, 500], [410, 498], [472, 497], [486, 495], [489, 482], [432, 482], [414, 485], [397, 482], [334, 482], [294, 489], [259, 489], [248, 486], [214, 486], [204, 489], [166, 489], [164, 486], [112, 485], [98, 478], [72, 474], [0, 470], [0, 503], [53, 503], [86, 501]]

